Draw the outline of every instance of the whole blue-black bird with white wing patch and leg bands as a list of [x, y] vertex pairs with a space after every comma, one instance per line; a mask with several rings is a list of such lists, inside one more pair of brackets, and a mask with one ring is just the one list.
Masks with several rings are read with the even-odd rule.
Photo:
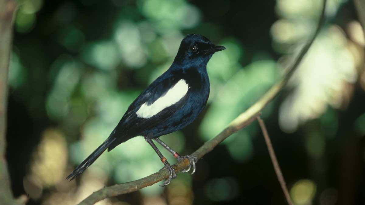
[[[111, 151], [119, 144], [143, 136], [160, 157], [169, 173], [164, 185], [176, 178], [176, 171], [161, 154], [153, 140], [165, 147], [180, 162], [189, 160], [189, 171], [195, 172], [197, 158], [181, 156], [159, 138], [183, 129], [203, 111], [210, 93], [207, 63], [217, 51], [226, 49], [216, 46], [199, 34], [183, 38], [172, 65], [154, 80], [131, 103], [110, 136], [88, 156], [66, 179], [73, 180], [85, 171], [105, 150]], [[161, 186], [161, 185], [160, 185]]]

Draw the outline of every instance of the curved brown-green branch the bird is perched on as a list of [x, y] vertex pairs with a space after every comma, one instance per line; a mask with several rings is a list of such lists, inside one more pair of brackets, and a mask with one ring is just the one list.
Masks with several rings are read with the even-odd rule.
[[[303, 59], [304, 55], [307, 53], [308, 49], [312, 45], [314, 39], [318, 35], [323, 21], [324, 21], [324, 11], [326, 7], [326, 0], [323, 1], [323, 9], [322, 13], [318, 22], [318, 27], [314, 33], [314, 35], [311, 37], [311, 39], [308, 41], [308, 43], [303, 47], [301, 50], [299, 56], [296, 58], [294, 64], [290, 67], [287, 74], [275, 85], [273, 85], [268, 92], [264, 94], [264, 96], [261, 97], [260, 100], [255, 102], [249, 109], [247, 109], [245, 112], [241, 113], [236, 119], [234, 119], [226, 129], [224, 129], [219, 135], [217, 135], [215, 138], [209, 140], [208, 142], [205, 142], [203, 146], [201, 146], [198, 150], [196, 150], [192, 155], [196, 156], [198, 159], [203, 157], [208, 152], [212, 151], [214, 147], [216, 147], [219, 143], [221, 143], [224, 139], [228, 138], [228, 136], [232, 135], [233, 133], [239, 131], [240, 129], [246, 127], [250, 123], [252, 123], [258, 116], [260, 116], [261, 110], [274, 98], [277, 96], [277, 94], [280, 92], [280, 90], [283, 89], [283, 87], [287, 84], [289, 78], [292, 76], [293, 72], [298, 67], [299, 63]], [[181, 172], [181, 170], [184, 170], [189, 165], [189, 162], [187, 159], [173, 165], [174, 169], [176, 169], [177, 172]], [[92, 193], [89, 197], [85, 198], [82, 202], [80, 202], [80, 205], [86, 205], [86, 204], [95, 204], [97, 201], [103, 200], [107, 197], [112, 196], [118, 196], [120, 194], [126, 194], [130, 192], [135, 192], [139, 189], [142, 189], [146, 186], [153, 185], [154, 183], [160, 182], [163, 179], [168, 178], [168, 172], [166, 170], [161, 170], [157, 173], [154, 173], [148, 177], [127, 182], [123, 184], [113, 185], [110, 187], [105, 187], [103, 189], [100, 189], [94, 193]]]

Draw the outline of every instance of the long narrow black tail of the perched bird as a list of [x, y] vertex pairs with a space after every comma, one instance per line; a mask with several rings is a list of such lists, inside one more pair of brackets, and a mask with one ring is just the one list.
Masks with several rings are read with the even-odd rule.
[[78, 165], [78, 167], [76, 167], [75, 170], [72, 171], [72, 173], [70, 175], [68, 175], [68, 177], [66, 179], [70, 179], [73, 180], [74, 178], [76, 178], [78, 175], [80, 175], [82, 172], [85, 171], [86, 168], [88, 168], [92, 163], [95, 162], [95, 160], [101, 155], [103, 154], [103, 152], [108, 148], [108, 146], [114, 142], [115, 138], [111, 138], [109, 137], [107, 140], [105, 140], [105, 142], [103, 144], [101, 144], [95, 151], [93, 151], [91, 153], [90, 156], [88, 156], [88, 158], [86, 158], [84, 160], [84, 162], [82, 162], [80, 165]]

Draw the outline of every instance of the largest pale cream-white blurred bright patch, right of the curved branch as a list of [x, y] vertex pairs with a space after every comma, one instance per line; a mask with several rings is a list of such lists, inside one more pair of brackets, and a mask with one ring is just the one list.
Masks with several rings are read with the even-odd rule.
[[346, 102], [346, 85], [356, 79], [355, 62], [341, 30], [335, 26], [323, 30], [289, 81], [295, 89], [280, 106], [281, 129], [294, 132], [322, 115], [328, 105], [339, 108]]

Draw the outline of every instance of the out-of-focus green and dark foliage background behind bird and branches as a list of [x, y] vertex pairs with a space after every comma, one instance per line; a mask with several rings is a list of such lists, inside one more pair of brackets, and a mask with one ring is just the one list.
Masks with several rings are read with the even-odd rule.
[[[161, 137], [191, 154], [285, 73], [315, 31], [322, 1], [18, 0], [18, 6], [7, 129], [12, 190], [27, 194], [30, 205], [56, 205], [162, 168], [137, 137], [65, 180], [169, 68], [185, 35], [227, 48], [208, 63], [211, 94], [203, 113]], [[328, 0], [318, 38], [262, 111], [297, 205], [365, 204], [364, 46], [353, 1]], [[199, 160], [195, 174], [158, 184], [98, 204], [286, 204], [256, 121]]]

